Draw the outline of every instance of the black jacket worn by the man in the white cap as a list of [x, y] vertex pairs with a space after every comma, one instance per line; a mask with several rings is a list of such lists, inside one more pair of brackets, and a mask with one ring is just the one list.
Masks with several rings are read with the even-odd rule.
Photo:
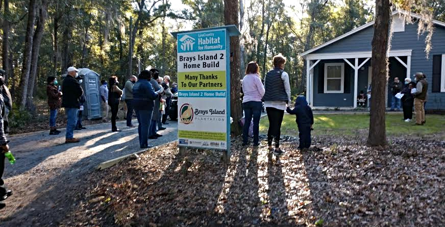
[[64, 108], [79, 108], [79, 98], [83, 94], [79, 81], [66, 75], [62, 84], [62, 107]]

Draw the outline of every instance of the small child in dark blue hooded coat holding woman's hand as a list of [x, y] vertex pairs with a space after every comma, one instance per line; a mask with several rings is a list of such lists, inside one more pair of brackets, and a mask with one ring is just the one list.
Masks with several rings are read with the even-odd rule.
[[287, 107], [286, 111], [289, 114], [295, 114], [296, 124], [298, 125], [298, 132], [300, 137], [300, 145], [298, 148], [305, 149], [311, 146], [311, 130], [314, 124], [314, 116], [312, 109], [306, 102], [305, 96], [298, 96], [295, 100], [295, 107], [291, 110]]

